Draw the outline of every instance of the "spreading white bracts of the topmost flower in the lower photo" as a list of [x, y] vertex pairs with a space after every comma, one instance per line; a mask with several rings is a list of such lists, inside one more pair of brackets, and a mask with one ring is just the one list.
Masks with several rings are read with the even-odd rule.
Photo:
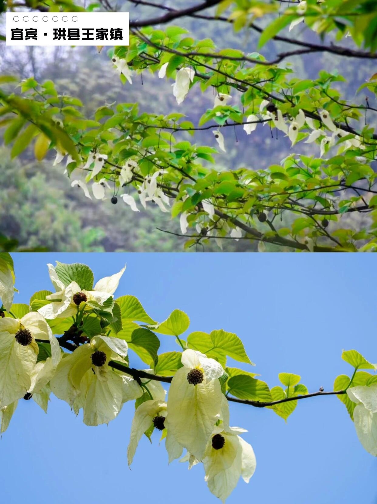
[[80, 285], [76, 282], [71, 282], [66, 287], [65, 284], [59, 280], [53, 265], [48, 264], [47, 267], [50, 280], [57, 292], [46, 296], [46, 299], [52, 302], [39, 308], [38, 312], [48, 320], [74, 316], [77, 312], [77, 305], [73, 301], [73, 296], [78, 292], [83, 292], [87, 300], [95, 301], [99, 306], [102, 306], [109, 297], [113, 296], [125, 270], [124, 266], [119, 273], [98, 280], [93, 290], [89, 291], [81, 289]]

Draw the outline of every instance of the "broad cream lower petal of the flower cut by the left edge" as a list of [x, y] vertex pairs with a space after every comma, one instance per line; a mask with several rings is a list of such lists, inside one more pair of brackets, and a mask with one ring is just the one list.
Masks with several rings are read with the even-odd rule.
[[2, 407], [24, 397], [30, 388], [30, 377], [36, 361], [37, 353], [34, 346], [20, 345], [13, 334], [0, 333], [0, 404]]

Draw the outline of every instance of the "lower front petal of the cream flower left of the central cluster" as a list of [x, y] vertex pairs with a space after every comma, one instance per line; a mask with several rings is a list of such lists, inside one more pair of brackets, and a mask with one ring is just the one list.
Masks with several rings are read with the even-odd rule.
[[122, 379], [112, 371], [99, 377], [89, 369], [81, 380], [80, 390], [86, 425], [108, 423], [121, 410]]

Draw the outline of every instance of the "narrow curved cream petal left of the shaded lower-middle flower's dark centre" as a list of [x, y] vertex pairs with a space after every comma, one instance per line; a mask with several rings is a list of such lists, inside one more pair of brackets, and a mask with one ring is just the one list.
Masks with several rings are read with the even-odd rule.
[[130, 443], [127, 448], [127, 459], [131, 466], [136, 449], [144, 432], [152, 425], [153, 418], [158, 416], [159, 412], [164, 411], [166, 403], [163, 401], [145, 401], [135, 411], [132, 421]]

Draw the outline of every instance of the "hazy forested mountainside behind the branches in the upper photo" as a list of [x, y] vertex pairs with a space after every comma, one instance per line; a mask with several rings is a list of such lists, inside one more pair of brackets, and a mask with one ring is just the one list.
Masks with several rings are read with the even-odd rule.
[[[184, 0], [164, 2], [179, 9], [196, 1]], [[117, 10], [129, 11], [131, 19], [144, 19], [161, 15], [164, 11], [146, 7], [135, 7], [130, 2], [118, 4]], [[210, 12], [210, 11], [208, 11]], [[267, 19], [257, 24], [266, 24]], [[239, 48], [250, 53], [257, 50], [258, 34], [252, 30], [234, 33], [232, 26], [223, 22], [211, 22], [193, 18], [179, 19], [174, 24], [191, 31], [198, 39], [212, 38], [219, 49]], [[1, 22], [0, 22], [1, 25]], [[1, 30], [0, 30], [1, 31]], [[3, 30], [4, 31], [4, 30]], [[304, 25], [290, 32], [291, 37], [303, 37], [318, 42], [318, 37], [306, 30]], [[329, 43], [330, 38], [325, 40]], [[345, 39], [342, 45], [350, 45]], [[273, 58], [277, 52], [292, 50], [294, 46], [281, 42], [270, 42], [262, 53]], [[336, 83], [343, 96], [363, 104], [364, 92], [356, 90], [375, 73], [372, 60], [340, 58], [333, 54], [314, 53], [310, 56], [294, 56], [281, 65], [292, 64], [294, 75], [316, 78], [320, 70], [338, 70], [347, 82]], [[181, 105], [177, 105], [171, 89], [172, 81], [158, 79], [157, 75], [143, 73], [135, 75], [134, 84], [122, 85], [106, 48], [98, 54], [95, 47], [7, 47], [0, 43], [0, 73], [15, 75], [21, 79], [34, 76], [38, 82], [51, 79], [59, 93], [79, 97], [84, 103], [83, 113], [91, 118], [96, 108], [105, 103], [138, 102], [140, 111], [166, 114], [172, 110], [183, 112], [187, 119], [198, 122], [203, 112], [213, 106], [214, 94], [208, 89], [201, 93], [199, 86], [190, 90]], [[231, 92], [232, 104], [240, 105], [240, 94]], [[375, 107], [369, 95], [370, 106]], [[370, 119], [370, 118], [368, 118]], [[3, 144], [0, 130], [0, 146]], [[226, 153], [216, 155], [216, 168], [233, 169], [241, 166], [265, 168], [279, 163], [290, 153], [287, 138], [271, 138], [270, 129], [258, 126], [256, 132], [247, 136], [241, 127], [236, 135], [232, 128], [224, 133]], [[196, 132], [192, 141], [216, 147], [211, 131]], [[319, 146], [299, 144], [295, 152], [319, 155]], [[63, 174], [64, 166], [52, 166], [54, 151], [43, 162], [34, 159], [32, 149], [27, 149], [16, 160], [10, 159], [9, 149], [0, 147], [0, 232], [17, 239], [22, 247], [47, 247], [59, 251], [182, 251], [184, 238], [158, 231], [156, 228], [179, 232], [179, 223], [162, 214], [157, 207], [134, 213], [121, 201], [116, 206], [110, 201], [90, 201], [78, 188], [72, 188], [70, 180]], [[139, 205], [141, 207], [141, 205]], [[350, 216], [355, 226], [360, 217]], [[246, 240], [234, 242], [224, 240], [224, 251], [255, 250], [256, 244]], [[191, 249], [193, 250], [193, 249]], [[202, 251], [198, 247], [197, 251]], [[207, 251], [219, 251], [212, 243]]]

